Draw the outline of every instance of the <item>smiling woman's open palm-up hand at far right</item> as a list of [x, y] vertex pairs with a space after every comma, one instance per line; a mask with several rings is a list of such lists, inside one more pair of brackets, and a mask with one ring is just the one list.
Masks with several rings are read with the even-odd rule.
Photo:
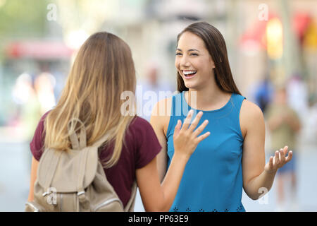
[[280, 151], [275, 151], [275, 156], [270, 157], [270, 160], [266, 163], [264, 170], [268, 173], [273, 173], [278, 171], [278, 169], [285, 165], [285, 163], [290, 162], [290, 160], [292, 160], [293, 152], [290, 150], [290, 153], [288, 153], [287, 157], [285, 157], [287, 149], [288, 147], [285, 146], [284, 148], [280, 148]]

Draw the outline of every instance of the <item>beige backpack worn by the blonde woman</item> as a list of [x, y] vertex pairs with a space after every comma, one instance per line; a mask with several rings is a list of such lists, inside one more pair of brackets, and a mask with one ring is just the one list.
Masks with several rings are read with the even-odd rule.
[[[79, 119], [72, 121], [82, 124]], [[70, 132], [72, 150], [45, 150], [37, 169], [34, 201], [25, 203], [25, 211], [133, 211], [137, 183], [134, 182], [130, 201], [123, 208], [99, 161], [98, 148], [106, 138], [107, 135], [87, 147], [82, 126], [80, 141], [74, 131]]]

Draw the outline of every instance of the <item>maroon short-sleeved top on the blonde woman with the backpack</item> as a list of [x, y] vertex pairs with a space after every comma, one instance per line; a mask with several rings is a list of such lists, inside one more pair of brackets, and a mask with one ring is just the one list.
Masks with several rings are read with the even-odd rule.
[[[40, 119], [30, 143], [32, 155], [37, 161], [42, 155], [44, 146], [44, 119], [46, 114]], [[128, 127], [125, 144], [118, 163], [109, 169], [104, 169], [108, 182], [113, 186], [124, 206], [126, 206], [131, 196], [132, 184], [135, 181], [135, 169], [147, 165], [161, 150], [161, 145], [151, 124], [140, 117], [135, 117]], [[104, 150], [101, 150], [99, 155], [101, 160], [105, 160], [108, 154], [111, 153], [110, 148], [113, 150], [113, 145], [108, 145]]]

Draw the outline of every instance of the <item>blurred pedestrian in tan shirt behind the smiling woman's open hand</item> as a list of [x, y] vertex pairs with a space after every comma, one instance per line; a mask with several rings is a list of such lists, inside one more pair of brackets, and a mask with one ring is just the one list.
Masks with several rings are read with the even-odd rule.
[[[266, 112], [268, 120], [268, 129], [271, 133], [271, 150], [278, 150], [282, 145], [288, 145], [293, 150], [292, 161], [282, 168], [278, 169], [277, 184], [277, 208], [278, 211], [285, 211], [285, 182], [291, 179], [291, 197], [292, 210], [298, 210], [297, 206], [297, 177], [296, 165], [298, 158], [297, 134], [301, 128], [301, 122], [297, 113], [287, 104], [287, 90], [285, 87], [277, 88], [275, 91], [273, 103], [268, 106]], [[294, 151], [295, 150], [295, 151]]]

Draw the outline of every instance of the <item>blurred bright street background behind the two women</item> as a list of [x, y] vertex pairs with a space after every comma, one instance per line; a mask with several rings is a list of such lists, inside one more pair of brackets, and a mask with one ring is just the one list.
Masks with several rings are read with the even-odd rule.
[[[223, 34], [238, 88], [263, 111], [266, 158], [276, 140], [292, 143], [296, 156], [268, 194], [243, 194], [244, 208], [317, 211], [315, 0], [0, 0], [0, 211], [24, 210], [29, 143], [89, 35], [108, 31], [128, 42], [139, 101], [146, 90], [176, 90], [177, 35], [200, 20]], [[135, 210], [144, 210], [139, 195]]]

